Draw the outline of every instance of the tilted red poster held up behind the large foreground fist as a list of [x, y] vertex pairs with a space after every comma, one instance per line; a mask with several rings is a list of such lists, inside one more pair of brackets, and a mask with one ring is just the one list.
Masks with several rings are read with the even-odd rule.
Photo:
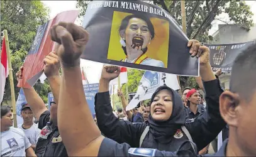
[[78, 14], [79, 12], [75, 10], [64, 11], [38, 27], [35, 39], [23, 65], [23, 78], [19, 81], [18, 87], [29, 88], [42, 75], [44, 67], [43, 59], [54, 48], [54, 42], [50, 37], [50, 28], [60, 21], [74, 23]]

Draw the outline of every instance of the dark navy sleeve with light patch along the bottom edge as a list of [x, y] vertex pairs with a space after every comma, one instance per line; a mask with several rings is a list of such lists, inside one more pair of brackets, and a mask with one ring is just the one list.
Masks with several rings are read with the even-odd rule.
[[98, 156], [179, 156], [175, 152], [159, 151], [151, 148], [131, 148], [129, 144], [119, 144], [109, 138], [104, 138], [99, 148]]

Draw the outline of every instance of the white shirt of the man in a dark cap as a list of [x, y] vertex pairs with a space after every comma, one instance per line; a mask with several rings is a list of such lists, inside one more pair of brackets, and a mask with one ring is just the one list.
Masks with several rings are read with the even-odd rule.
[[30, 140], [31, 144], [36, 145], [41, 133], [41, 129], [38, 129], [38, 124], [33, 123], [33, 125], [29, 129], [23, 129], [22, 124], [20, 124], [18, 128], [24, 131], [26, 138]]

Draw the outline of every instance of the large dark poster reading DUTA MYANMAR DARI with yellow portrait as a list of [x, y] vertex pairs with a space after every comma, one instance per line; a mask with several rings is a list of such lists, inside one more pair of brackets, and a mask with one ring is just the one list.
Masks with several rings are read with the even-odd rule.
[[164, 9], [143, 1], [92, 1], [82, 26], [90, 38], [82, 58], [121, 67], [198, 76], [188, 38]]

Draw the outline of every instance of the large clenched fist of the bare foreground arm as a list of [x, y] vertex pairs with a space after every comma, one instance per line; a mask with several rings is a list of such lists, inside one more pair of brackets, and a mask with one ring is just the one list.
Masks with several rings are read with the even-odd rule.
[[60, 22], [51, 28], [50, 33], [52, 40], [58, 43], [55, 51], [62, 67], [79, 66], [81, 54], [89, 40], [87, 31], [74, 23]]

